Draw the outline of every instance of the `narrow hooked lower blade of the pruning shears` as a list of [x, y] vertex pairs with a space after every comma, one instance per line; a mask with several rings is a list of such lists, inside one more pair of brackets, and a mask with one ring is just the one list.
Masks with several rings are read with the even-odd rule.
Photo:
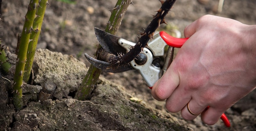
[[130, 66], [130, 64], [122, 64], [122, 65], [110, 64], [109, 62], [94, 59], [86, 53], [85, 53], [85, 57], [92, 65], [94, 65], [94, 67], [106, 72], [119, 73], [119, 72], [129, 71], [133, 69]]

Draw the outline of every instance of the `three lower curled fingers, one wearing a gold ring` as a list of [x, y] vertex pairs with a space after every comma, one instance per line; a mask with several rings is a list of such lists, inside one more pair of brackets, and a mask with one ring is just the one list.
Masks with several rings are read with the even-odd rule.
[[173, 113], [181, 111], [182, 118], [185, 120], [193, 120], [202, 113], [201, 117], [204, 123], [209, 125], [215, 124], [220, 119], [222, 113], [213, 110], [213, 108], [206, 111], [205, 109], [209, 103], [198, 99], [201, 98], [201, 95], [194, 96], [191, 90], [188, 90], [191, 93], [186, 93], [186, 89], [182, 88], [182, 86], [179, 85], [166, 100], [166, 109]]

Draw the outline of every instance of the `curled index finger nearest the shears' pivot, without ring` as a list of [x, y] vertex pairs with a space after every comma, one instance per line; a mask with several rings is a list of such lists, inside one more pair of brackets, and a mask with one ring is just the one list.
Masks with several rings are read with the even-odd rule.
[[156, 100], [165, 100], [170, 97], [179, 83], [179, 75], [174, 72], [171, 64], [162, 78], [154, 84], [151, 93]]

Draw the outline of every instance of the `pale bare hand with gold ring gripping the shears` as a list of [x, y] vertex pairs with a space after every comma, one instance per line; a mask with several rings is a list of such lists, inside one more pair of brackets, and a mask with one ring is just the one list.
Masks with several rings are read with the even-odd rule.
[[[201, 114], [215, 124], [222, 113], [256, 88], [256, 25], [206, 15], [188, 25], [189, 37], [152, 89], [170, 112], [185, 120]], [[189, 113], [186, 105], [189, 103]], [[209, 109], [205, 110], [207, 106]]]

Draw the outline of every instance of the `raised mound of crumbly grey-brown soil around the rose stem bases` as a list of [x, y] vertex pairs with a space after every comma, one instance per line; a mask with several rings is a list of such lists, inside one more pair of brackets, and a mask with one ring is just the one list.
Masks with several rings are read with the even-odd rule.
[[[125, 93], [124, 87], [104, 78], [100, 78], [90, 100], [73, 99], [73, 91], [77, 91], [82, 76], [87, 72], [85, 64], [47, 49], [38, 49], [35, 58], [34, 85], [23, 85], [24, 109], [15, 111], [11, 102], [10, 83], [13, 81], [0, 79], [3, 83], [0, 125], [6, 131], [189, 131], [170, 114], [161, 115], [156, 109], [146, 107], [145, 102], [130, 101], [132, 96]], [[54, 80], [51, 82], [56, 87], [54, 93], [51, 98], [51, 95], [46, 95], [49, 98], [40, 99], [41, 93], [46, 94], [42, 91], [44, 82], [49, 79]], [[61, 82], [68, 84], [59, 84]]]

